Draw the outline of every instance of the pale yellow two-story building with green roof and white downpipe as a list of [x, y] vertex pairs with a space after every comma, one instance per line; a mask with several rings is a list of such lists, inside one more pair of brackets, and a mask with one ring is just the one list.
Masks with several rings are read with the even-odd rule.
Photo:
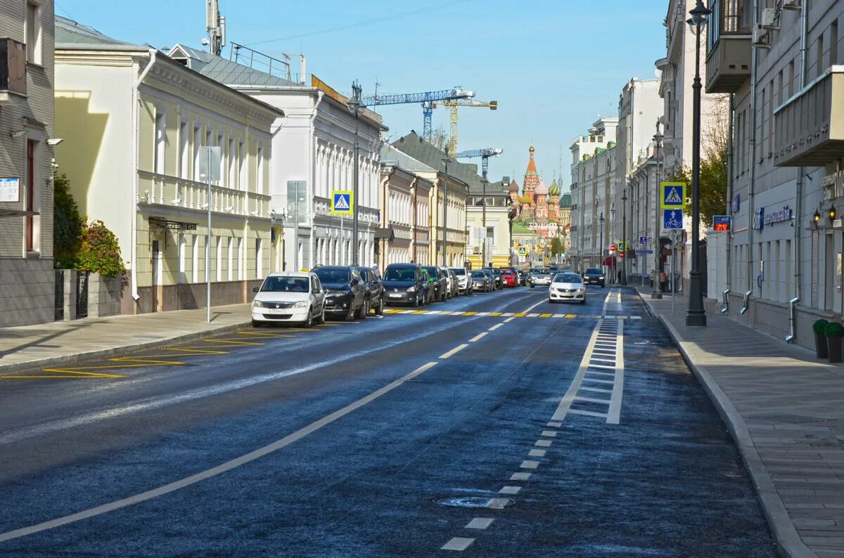
[[[57, 163], [80, 211], [116, 234], [124, 313], [242, 303], [282, 244], [271, 233], [271, 125], [280, 111], [154, 51], [56, 22]], [[220, 180], [200, 148], [219, 147]], [[206, 259], [207, 209], [212, 212]]]

